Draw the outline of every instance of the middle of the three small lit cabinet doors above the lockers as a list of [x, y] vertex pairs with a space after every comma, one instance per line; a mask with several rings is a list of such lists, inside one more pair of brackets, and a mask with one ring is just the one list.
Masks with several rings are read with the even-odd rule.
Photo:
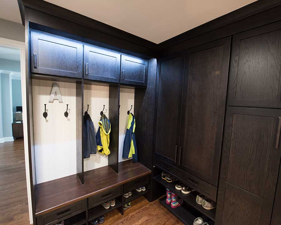
[[84, 45], [84, 79], [120, 82], [120, 54]]

